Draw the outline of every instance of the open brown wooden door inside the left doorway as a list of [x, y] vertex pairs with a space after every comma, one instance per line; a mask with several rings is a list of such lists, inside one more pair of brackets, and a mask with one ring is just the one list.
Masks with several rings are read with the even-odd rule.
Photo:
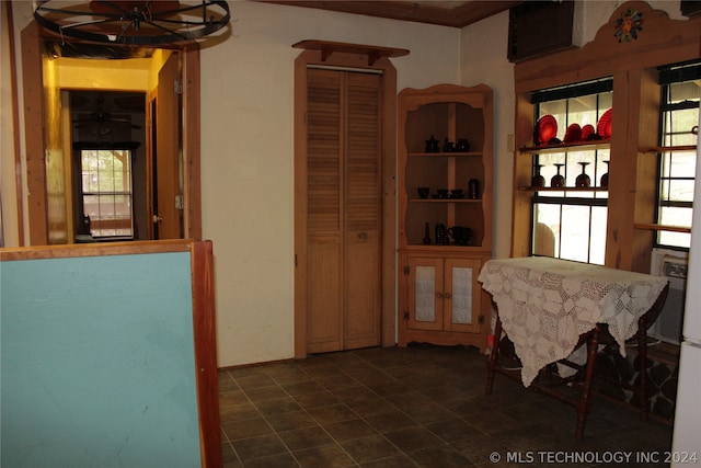
[[158, 73], [154, 153], [156, 239], [182, 239], [180, 53], [173, 53]]

